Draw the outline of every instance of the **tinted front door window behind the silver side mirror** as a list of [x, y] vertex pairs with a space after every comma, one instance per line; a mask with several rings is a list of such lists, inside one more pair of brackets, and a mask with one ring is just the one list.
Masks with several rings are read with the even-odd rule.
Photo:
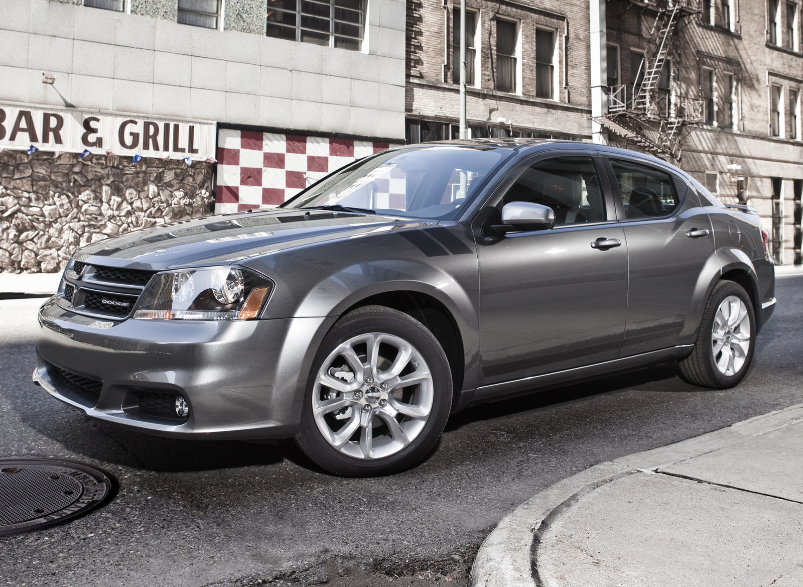
[[591, 157], [559, 157], [540, 161], [522, 173], [502, 200], [535, 202], [555, 212], [555, 224], [605, 220], [597, 168]]

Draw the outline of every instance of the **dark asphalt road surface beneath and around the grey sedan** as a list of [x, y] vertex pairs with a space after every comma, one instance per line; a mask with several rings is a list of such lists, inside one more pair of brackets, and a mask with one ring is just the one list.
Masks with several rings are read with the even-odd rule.
[[291, 442], [93, 422], [31, 384], [41, 300], [0, 300], [0, 455], [75, 459], [120, 481], [102, 510], [0, 538], [0, 585], [464, 585], [491, 528], [552, 483], [803, 402], [803, 277], [779, 278], [777, 299], [736, 389], [649, 369], [478, 406], [426, 463], [381, 479], [327, 475]]

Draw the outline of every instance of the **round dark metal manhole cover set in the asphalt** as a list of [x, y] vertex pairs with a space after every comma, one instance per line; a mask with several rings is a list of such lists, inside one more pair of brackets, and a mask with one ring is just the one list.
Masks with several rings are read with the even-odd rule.
[[112, 499], [106, 471], [57, 459], [0, 459], [0, 536], [63, 524]]

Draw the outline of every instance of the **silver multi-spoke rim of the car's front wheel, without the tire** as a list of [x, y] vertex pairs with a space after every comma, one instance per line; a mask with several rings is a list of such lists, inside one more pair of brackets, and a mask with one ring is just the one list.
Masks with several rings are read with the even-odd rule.
[[316, 374], [312, 414], [336, 450], [382, 459], [414, 441], [433, 401], [433, 378], [421, 353], [399, 336], [369, 332], [329, 353]]

